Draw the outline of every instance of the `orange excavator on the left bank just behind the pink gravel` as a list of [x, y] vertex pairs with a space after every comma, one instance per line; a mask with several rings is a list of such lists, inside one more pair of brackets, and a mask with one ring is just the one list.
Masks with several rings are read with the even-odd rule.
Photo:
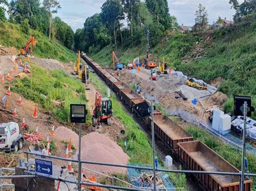
[[93, 109], [92, 116], [93, 126], [98, 126], [104, 121], [107, 125], [111, 125], [112, 114], [112, 102], [110, 98], [101, 98], [97, 92], [95, 97], [95, 108]]

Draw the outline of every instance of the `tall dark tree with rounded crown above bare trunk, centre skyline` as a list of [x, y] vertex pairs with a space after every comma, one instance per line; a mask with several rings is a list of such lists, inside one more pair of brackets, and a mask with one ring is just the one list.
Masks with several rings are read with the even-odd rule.
[[117, 50], [117, 29], [120, 20], [124, 19], [124, 9], [119, 0], [107, 0], [102, 5], [100, 18], [109, 31], [113, 30], [114, 45]]

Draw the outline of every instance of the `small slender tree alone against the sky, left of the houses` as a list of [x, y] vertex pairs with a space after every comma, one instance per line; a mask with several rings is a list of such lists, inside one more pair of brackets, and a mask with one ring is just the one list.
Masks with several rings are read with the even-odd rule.
[[198, 28], [199, 31], [205, 30], [205, 26], [208, 24], [208, 13], [205, 9], [205, 6], [199, 4], [195, 16], [195, 27]]

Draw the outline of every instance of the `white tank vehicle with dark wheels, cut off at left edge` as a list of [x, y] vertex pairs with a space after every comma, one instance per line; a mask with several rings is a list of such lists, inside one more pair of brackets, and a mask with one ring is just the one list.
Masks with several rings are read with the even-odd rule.
[[0, 150], [17, 152], [23, 147], [23, 136], [19, 133], [19, 125], [15, 122], [0, 124]]

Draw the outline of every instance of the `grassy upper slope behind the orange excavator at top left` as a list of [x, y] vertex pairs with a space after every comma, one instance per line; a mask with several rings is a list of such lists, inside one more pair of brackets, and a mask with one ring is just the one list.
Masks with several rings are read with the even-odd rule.
[[[70, 49], [64, 47], [56, 40], [51, 40], [44, 36], [41, 32], [30, 30], [30, 35], [35, 36], [35, 47], [33, 55], [40, 58], [52, 58], [64, 62], [76, 62], [77, 56]], [[0, 23], [0, 45], [6, 47], [20, 47], [26, 44], [29, 35], [21, 30], [21, 26], [12, 23]]]

